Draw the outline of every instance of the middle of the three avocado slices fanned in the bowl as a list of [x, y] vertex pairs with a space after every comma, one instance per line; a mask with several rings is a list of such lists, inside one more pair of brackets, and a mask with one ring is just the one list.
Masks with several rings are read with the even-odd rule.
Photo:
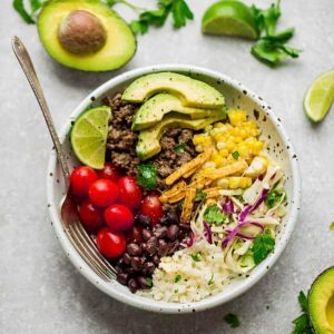
[[200, 109], [184, 107], [180, 99], [170, 94], [158, 94], [148, 99], [136, 112], [132, 130], [143, 130], [154, 126], [170, 112], [177, 111], [187, 115], [190, 119], [215, 117], [225, 112], [225, 109]]

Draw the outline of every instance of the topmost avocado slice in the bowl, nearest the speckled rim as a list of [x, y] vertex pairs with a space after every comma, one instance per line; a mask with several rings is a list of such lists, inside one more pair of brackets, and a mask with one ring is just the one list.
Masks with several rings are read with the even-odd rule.
[[135, 80], [124, 91], [122, 100], [144, 102], [157, 92], [171, 92], [181, 99], [186, 107], [222, 108], [225, 106], [223, 95], [214, 87], [173, 72], [151, 73]]

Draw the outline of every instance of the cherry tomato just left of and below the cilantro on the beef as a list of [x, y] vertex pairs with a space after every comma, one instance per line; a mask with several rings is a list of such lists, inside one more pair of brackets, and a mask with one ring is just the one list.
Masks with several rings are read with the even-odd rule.
[[118, 180], [120, 202], [131, 210], [140, 207], [143, 191], [134, 176], [124, 176]]

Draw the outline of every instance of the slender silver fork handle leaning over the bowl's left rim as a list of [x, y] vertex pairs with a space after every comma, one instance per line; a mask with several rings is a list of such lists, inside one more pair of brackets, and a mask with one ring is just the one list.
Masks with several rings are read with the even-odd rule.
[[14, 36], [12, 38], [11, 45], [12, 45], [13, 52], [14, 52], [16, 57], [19, 60], [19, 63], [20, 63], [23, 72], [24, 72], [24, 75], [26, 75], [33, 92], [35, 92], [35, 96], [38, 100], [38, 104], [39, 104], [39, 106], [41, 108], [41, 111], [43, 114], [43, 117], [46, 119], [49, 132], [51, 135], [53, 145], [55, 145], [55, 148], [56, 148], [57, 157], [58, 157], [58, 160], [59, 160], [61, 169], [62, 169], [62, 174], [63, 174], [63, 177], [65, 177], [65, 184], [66, 184], [66, 187], [68, 189], [68, 187], [69, 187], [69, 175], [70, 175], [69, 167], [68, 167], [66, 156], [65, 156], [65, 153], [62, 150], [62, 146], [60, 144], [59, 137], [57, 135], [56, 127], [55, 127], [55, 124], [53, 124], [53, 120], [52, 120], [47, 100], [45, 98], [42, 88], [40, 86], [40, 82], [39, 82], [39, 79], [37, 77], [36, 70], [33, 68], [31, 58], [30, 58], [24, 45], [22, 43], [22, 41], [17, 36]]

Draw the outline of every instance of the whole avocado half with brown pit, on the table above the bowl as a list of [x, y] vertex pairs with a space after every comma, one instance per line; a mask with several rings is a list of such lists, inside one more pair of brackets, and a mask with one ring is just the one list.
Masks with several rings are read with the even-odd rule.
[[129, 26], [99, 0], [53, 0], [38, 17], [38, 33], [48, 53], [63, 66], [108, 71], [136, 52]]

